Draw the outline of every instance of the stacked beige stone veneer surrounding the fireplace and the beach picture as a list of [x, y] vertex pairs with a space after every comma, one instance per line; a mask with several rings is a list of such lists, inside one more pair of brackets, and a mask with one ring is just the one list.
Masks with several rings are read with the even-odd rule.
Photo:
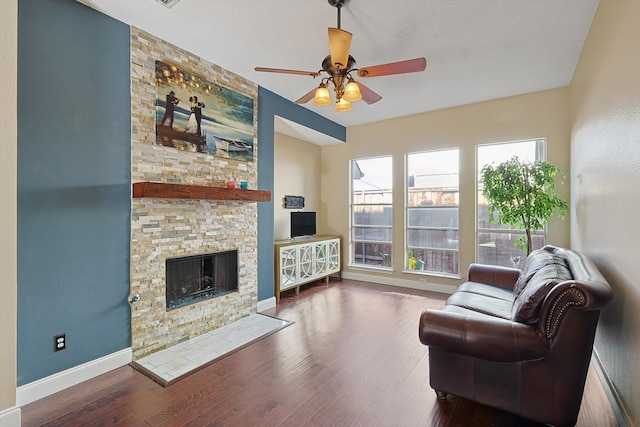
[[[254, 99], [254, 161], [223, 159], [155, 144], [155, 61], [181, 66]], [[137, 28], [131, 29], [131, 178], [204, 186], [257, 183], [258, 87]], [[256, 202], [132, 199], [131, 347], [134, 360], [256, 312]], [[238, 250], [238, 292], [166, 310], [165, 260]]]

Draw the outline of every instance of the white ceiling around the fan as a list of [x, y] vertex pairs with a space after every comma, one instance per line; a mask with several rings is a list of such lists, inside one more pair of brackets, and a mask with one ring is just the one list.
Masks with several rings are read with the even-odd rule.
[[[327, 0], [77, 0], [295, 101], [319, 84], [254, 67], [321, 69]], [[360, 79], [382, 95], [353, 110], [304, 106], [343, 126], [566, 86], [598, 0], [349, 0], [341, 27], [357, 67], [424, 56], [421, 73]], [[304, 138], [303, 138], [304, 139]]]

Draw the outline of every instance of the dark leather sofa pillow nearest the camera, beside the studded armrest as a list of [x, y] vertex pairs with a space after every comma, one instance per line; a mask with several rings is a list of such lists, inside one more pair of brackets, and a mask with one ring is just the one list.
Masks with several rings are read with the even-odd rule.
[[533, 274], [520, 295], [513, 301], [511, 320], [528, 324], [536, 323], [542, 301], [549, 291], [558, 283], [572, 278], [564, 260], [555, 256], [551, 263]]

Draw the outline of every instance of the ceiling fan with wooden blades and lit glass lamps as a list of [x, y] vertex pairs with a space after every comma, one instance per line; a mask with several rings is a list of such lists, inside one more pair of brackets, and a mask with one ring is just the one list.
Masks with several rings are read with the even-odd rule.
[[414, 73], [424, 71], [427, 68], [427, 60], [425, 58], [415, 58], [365, 68], [355, 68], [356, 60], [349, 54], [352, 35], [350, 32], [340, 28], [340, 10], [349, 0], [328, 0], [328, 2], [338, 11], [338, 25], [337, 28], [329, 28], [330, 54], [322, 61], [321, 70], [300, 71], [282, 68], [255, 68], [256, 71], [268, 73], [299, 74], [313, 78], [324, 76], [320, 85], [296, 100], [296, 104], [304, 104], [313, 99], [315, 105], [331, 105], [331, 96], [327, 89], [331, 83], [333, 84], [333, 90], [336, 94], [336, 111], [349, 111], [351, 110], [351, 102], [362, 99], [367, 104], [373, 104], [382, 99], [382, 96], [362, 83], [356, 82], [352, 73], [358, 77], [368, 78]]

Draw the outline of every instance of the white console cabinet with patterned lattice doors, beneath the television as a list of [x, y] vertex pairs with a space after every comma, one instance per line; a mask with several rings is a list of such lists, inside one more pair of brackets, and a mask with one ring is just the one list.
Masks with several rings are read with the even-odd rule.
[[340, 276], [340, 236], [314, 236], [275, 242], [275, 294], [329, 276]]

